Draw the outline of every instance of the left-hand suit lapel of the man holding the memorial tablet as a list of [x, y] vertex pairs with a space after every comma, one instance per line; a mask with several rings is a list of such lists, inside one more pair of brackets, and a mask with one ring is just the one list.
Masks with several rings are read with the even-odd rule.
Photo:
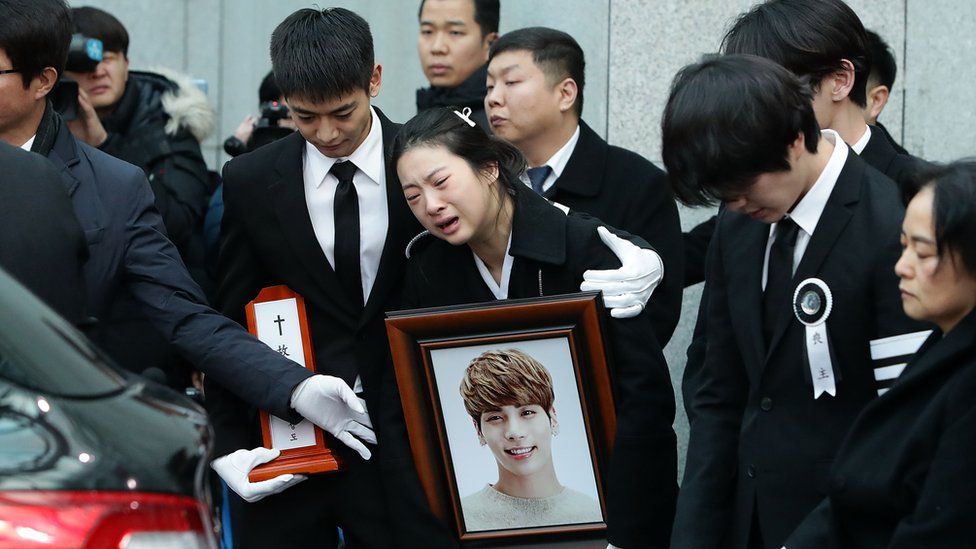
[[325, 257], [312, 228], [312, 219], [305, 201], [305, 180], [302, 176], [305, 140], [297, 132], [285, 139], [290, 139], [291, 142], [275, 165], [278, 178], [268, 186], [274, 201], [275, 215], [285, 239], [312, 279], [346, 315], [358, 317], [355, 305], [342, 291], [335, 270]]

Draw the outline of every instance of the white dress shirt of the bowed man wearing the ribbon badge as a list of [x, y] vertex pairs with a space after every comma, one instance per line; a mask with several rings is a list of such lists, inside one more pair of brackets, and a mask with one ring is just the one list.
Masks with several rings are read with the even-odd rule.
[[[796, 267], [800, 264], [800, 259], [803, 258], [803, 252], [806, 251], [807, 244], [810, 243], [810, 237], [813, 236], [813, 231], [817, 229], [817, 223], [820, 221], [824, 207], [827, 206], [830, 193], [833, 192], [834, 186], [837, 184], [837, 178], [840, 177], [840, 172], [844, 169], [844, 164], [847, 162], [847, 145], [840, 138], [840, 135], [834, 130], [823, 130], [821, 133], [823, 134], [824, 140], [834, 145], [834, 152], [831, 153], [827, 165], [820, 172], [820, 177], [817, 178], [813, 187], [810, 187], [810, 190], [807, 191], [807, 194], [793, 208], [793, 211], [786, 214], [786, 217], [792, 219], [800, 228], [796, 235], [796, 246], [793, 248], [794, 273], [796, 272]], [[769, 273], [769, 250], [773, 246], [778, 226], [779, 223], [773, 223], [769, 227], [769, 238], [766, 240], [766, 254], [763, 257], [763, 290], [766, 289], [766, 277]]]

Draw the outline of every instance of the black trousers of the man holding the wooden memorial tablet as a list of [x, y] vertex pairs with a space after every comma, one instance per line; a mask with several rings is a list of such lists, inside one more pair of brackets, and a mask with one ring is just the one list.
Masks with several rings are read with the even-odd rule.
[[338, 528], [349, 549], [397, 547], [379, 468], [350, 461], [342, 472], [311, 475], [255, 503], [230, 492], [234, 548], [335, 549]]

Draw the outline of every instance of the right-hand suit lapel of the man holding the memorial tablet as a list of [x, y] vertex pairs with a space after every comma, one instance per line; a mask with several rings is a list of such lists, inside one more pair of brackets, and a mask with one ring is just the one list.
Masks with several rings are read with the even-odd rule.
[[[373, 107], [376, 109], [376, 107]], [[386, 168], [386, 203], [389, 211], [389, 226], [386, 230], [386, 241], [383, 243], [383, 253], [380, 255], [379, 267], [376, 271], [376, 281], [369, 292], [360, 324], [369, 321], [375, 314], [382, 312], [386, 306], [389, 294], [402, 278], [403, 265], [406, 263], [406, 246], [416, 234], [421, 231], [420, 223], [413, 216], [403, 198], [400, 179], [393, 165], [393, 138], [400, 129], [399, 124], [391, 122], [383, 113], [376, 109], [383, 129], [383, 159]]]

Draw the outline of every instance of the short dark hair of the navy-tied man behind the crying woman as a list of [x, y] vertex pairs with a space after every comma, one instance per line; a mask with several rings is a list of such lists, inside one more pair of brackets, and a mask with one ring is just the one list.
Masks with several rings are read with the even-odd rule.
[[549, 85], [555, 86], [565, 78], [576, 82], [576, 115], [583, 115], [583, 86], [586, 83], [586, 61], [583, 48], [563, 31], [546, 27], [527, 27], [507, 32], [488, 52], [488, 62], [506, 51], [532, 52], [532, 61], [545, 73]]

